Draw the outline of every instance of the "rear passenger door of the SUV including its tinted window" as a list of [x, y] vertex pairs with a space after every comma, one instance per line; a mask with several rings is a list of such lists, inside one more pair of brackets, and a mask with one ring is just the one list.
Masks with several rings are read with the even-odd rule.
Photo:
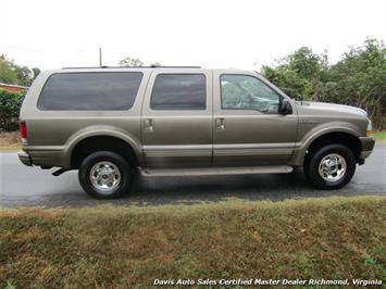
[[212, 163], [212, 72], [154, 70], [141, 114], [147, 167]]

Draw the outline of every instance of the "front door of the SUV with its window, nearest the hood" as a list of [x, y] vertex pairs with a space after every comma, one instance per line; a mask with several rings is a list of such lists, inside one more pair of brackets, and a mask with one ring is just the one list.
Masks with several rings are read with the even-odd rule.
[[298, 116], [278, 112], [283, 96], [254, 74], [216, 71], [213, 164], [284, 165], [294, 151]]

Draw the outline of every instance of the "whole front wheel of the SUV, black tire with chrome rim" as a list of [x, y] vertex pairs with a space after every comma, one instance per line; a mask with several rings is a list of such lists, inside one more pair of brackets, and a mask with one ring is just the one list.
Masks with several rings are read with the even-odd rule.
[[306, 159], [306, 178], [316, 188], [335, 190], [346, 186], [356, 173], [356, 156], [343, 144], [326, 144]]

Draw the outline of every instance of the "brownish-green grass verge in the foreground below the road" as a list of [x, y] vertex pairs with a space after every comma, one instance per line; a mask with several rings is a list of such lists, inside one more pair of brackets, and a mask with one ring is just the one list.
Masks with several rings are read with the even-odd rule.
[[[386, 198], [0, 211], [0, 288], [386, 279]], [[240, 287], [239, 287], [240, 288]]]

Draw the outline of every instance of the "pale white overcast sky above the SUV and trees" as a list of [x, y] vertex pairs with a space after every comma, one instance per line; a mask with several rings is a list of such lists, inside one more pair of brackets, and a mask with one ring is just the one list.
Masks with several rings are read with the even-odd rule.
[[335, 63], [386, 40], [386, 0], [0, 0], [0, 54], [52, 70], [145, 64], [259, 70], [307, 46]]

